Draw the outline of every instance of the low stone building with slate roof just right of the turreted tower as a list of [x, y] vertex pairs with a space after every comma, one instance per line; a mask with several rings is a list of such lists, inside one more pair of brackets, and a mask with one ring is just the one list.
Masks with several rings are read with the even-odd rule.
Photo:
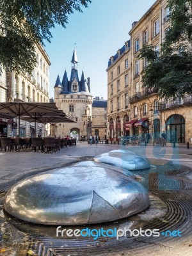
[[100, 141], [107, 138], [107, 108], [108, 101], [95, 97], [92, 104], [92, 134]]

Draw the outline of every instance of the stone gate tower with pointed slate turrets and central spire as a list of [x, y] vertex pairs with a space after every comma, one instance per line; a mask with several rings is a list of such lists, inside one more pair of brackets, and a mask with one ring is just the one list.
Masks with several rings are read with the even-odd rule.
[[90, 93], [90, 78], [86, 79], [84, 72], [81, 79], [77, 70], [76, 50], [72, 56], [72, 69], [68, 80], [65, 70], [62, 82], [60, 76], [56, 79], [54, 86], [54, 102], [56, 106], [65, 112], [71, 120], [76, 123], [60, 123], [55, 125], [56, 136], [74, 137], [77, 140], [87, 140], [92, 133], [92, 103], [93, 96]]

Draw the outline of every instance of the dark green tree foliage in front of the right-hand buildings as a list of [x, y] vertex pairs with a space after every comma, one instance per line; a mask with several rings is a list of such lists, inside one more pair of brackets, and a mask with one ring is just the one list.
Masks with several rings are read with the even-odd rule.
[[192, 93], [192, 1], [168, 0], [170, 29], [161, 51], [144, 45], [141, 58], [147, 58], [143, 86], [157, 88], [160, 97], [183, 97]]

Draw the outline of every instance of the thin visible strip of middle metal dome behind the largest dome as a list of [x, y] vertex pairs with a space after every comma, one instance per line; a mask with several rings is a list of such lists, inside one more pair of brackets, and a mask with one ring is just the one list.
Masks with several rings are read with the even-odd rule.
[[104, 164], [104, 163], [98, 163], [98, 162], [93, 162], [93, 161], [82, 161], [79, 163], [74, 164], [74, 166], [99, 166], [99, 167], [103, 167], [103, 168], [108, 168], [120, 173], [124, 173], [125, 175], [127, 175], [128, 177], [132, 178], [132, 179], [136, 179], [136, 175], [134, 175], [134, 173], [124, 169], [124, 168], [118, 168], [116, 166], [111, 166], [109, 164]]

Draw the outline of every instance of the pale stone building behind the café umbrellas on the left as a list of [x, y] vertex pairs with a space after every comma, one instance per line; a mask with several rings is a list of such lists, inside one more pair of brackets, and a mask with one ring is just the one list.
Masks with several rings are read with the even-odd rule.
[[[0, 80], [0, 86], [2, 87], [2, 84], [4, 84], [3, 93], [1, 91], [1, 102], [49, 102], [49, 67], [51, 62], [41, 45], [36, 45], [36, 58], [37, 64], [33, 74], [21, 72], [16, 75], [15, 72], [3, 72], [1, 75], [1, 77], [3, 76], [3, 82]], [[17, 136], [18, 128], [12, 130], [11, 122], [12, 120], [4, 122], [4, 131], [6, 130], [4, 135]], [[13, 118], [13, 122], [17, 122], [17, 118]], [[44, 129], [43, 124], [36, 125], [36, 135], [47, 136], [49, 133], [49, 125], [46, 125], [46, 129]], [[35, 124], [21, 120], [20, 136], [34, 137]]]

